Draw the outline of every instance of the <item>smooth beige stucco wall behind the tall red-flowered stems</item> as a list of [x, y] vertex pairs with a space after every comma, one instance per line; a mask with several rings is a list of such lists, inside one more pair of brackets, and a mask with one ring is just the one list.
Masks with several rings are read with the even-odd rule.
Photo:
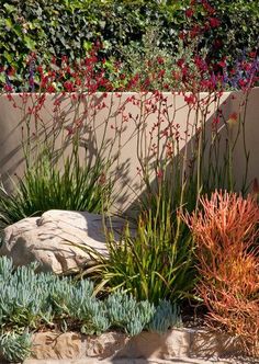
[[[66, 152], [69, 152], [69, 143], [71, 141], [68, 129], [75, 128], [79, 130], [80, 138], [88, 148], [88, 157], [94, 156], [102, 146], [101, 150], [112, 161], [115, 181], [114, 195], [116, 207], [121, 209], [131, 206], [133, 200], [139, 193], [137, 150], [138, 155], [143, 155], [143, 158], [145, 158], [145, 153], [147, 158], [150, 158], [150, 155], [147, 155], [150, 132], [155, 130], [153, 132], [153, 141], [155, 140], [156, 144], [156, 123], [158, 120], [161, 120], [160, 136], [166, 126], [178, 124], [180, 149], [183, 150], [188, 144], [189, 150], [191, 150], [195, 144], [195, 125], [199, 125], [203, 117], [206, 118], [206, 136], [210, 138], [216, 109], [219, 106], [226, 121], [234, 111], [239, 111], [243, 103], [240, 93], [224, 93], [219, 105], [216, 104], [213, 98], [211, 98], [209, 105], [205, 103], [203, 105], [202, 100], [207, 98], [207, 94], [204, 93], [200, 95], [200, 112], [198, 113], [195, 110], [190, 110], [183, 95], [171, 93], [164, 93], [162, 99], [157, 96], [157, 100], [155, 95], [138, 93], [110, 93], [105, 98], [102, 93], [97, 93], [91, 96], [83, 95], [81, 100], [75, 100], [78, 98], [77, 95], [65, 94], [61, 96], [58, 106], [55, 105], [55, 100], [60, 95], [48, 94], [35, 116], [35, 110], [30, 114], [30, 107], [32, 109], [38, 103], [35, 98], [40, 98], [40, 95], [31, 94], [26, 102], [23, 102], [19, 94], [11, 96], [12, 100], [8, 100], [7, 95], [0, 96], [0, 173], [3, 183], [5, 185], [10, 184], [8, 177], [13, 178], [14, 173], [22, 174], [23, 151], [21, 141], [22, 139], [25, 140], [29, 126], [31, 135], [40, 135], [44, 129], [46, 133], [43, 133], [41, 138], [47, 137], [48, 141], [53, 135], [56, 135], [56, 146], [60, 147], [63, 145], [67, 150]], [[128, 101], [128, 98], [132, 96], [135, 100]], [[158, 110], [154, 110], [156, 103], [159, 105]], [[167, 110], [167, 112], [164, 113], [164, 110]], [[204, 116], [202, 113], [206, 115]], [[241, 107], [241, 114], [244, 114], [244, 107]], [[248, 181], [254, 178], [259, 179], [258, 115], [259, 89], [254, 89], [249, 94], [245, 123], [246, 146], [250, 152]], [[224, 124], [223, 120], [218, 125], [222, 150], [226, 146], [226, 125], [228, 124]], [[188, 137], [185, 134], [187, 127], [190, 132]], [[233, 126], [234, 139], [237, 130], [240, 130], [240, 135], [234, 149], [233, 164], [236, 190], [241, 187], [246, 164], [243, 129], [241, 127], [239, 129], [238, 124]], [[36, 141], [38, 143], [40, 139]], [[165, 137], [160, 139], [161, 149], [166, 139]], [[139, 140], [142, 146], [146, 145], [145, 148], [139, 148]]]

